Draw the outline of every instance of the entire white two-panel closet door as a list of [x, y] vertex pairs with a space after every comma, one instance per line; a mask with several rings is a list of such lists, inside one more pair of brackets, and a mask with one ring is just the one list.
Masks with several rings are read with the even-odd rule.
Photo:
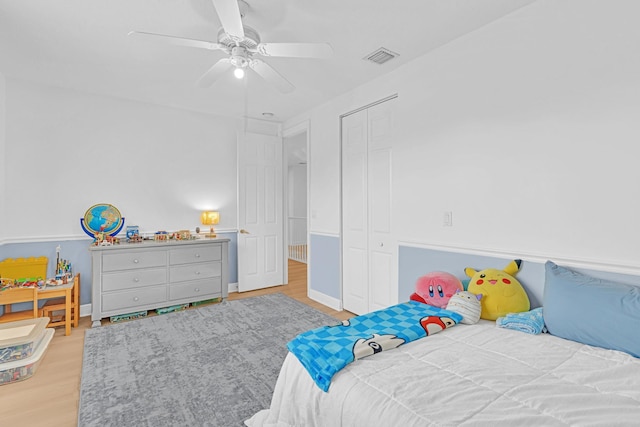
[[342, 118], [342, 302], [356, 314], [395, 304], [397, 294], [391, 218], [394, 103]]

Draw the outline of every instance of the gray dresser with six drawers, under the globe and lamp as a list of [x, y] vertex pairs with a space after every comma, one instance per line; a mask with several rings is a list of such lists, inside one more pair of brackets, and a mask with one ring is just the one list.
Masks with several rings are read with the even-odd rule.
[[92, 246], [91, 320], [229, 294], [229, 239]]

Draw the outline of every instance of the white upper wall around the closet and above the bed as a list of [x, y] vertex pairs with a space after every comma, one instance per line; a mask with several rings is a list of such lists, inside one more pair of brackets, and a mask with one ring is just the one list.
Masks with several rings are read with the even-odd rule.
[[340, 231], [339, 116], [397, 93], [399, 242], [640, 266], [639, 14], [540, 0], [292, 119], [310, 231]]

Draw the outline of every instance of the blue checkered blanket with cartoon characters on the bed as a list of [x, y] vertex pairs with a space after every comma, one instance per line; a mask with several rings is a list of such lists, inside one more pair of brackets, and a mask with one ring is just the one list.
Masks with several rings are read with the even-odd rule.
[[323, 391], [340, 369], [356, 359], [432, 335], [462, 316], [417, 301], [394, 305], [303, 332], [287, 344]]

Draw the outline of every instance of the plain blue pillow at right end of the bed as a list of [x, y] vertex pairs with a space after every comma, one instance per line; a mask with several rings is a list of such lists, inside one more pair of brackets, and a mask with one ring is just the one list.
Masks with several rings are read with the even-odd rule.
[[543, 316], [552, 335], [640, 357], [640, 286], [547, 261]]

